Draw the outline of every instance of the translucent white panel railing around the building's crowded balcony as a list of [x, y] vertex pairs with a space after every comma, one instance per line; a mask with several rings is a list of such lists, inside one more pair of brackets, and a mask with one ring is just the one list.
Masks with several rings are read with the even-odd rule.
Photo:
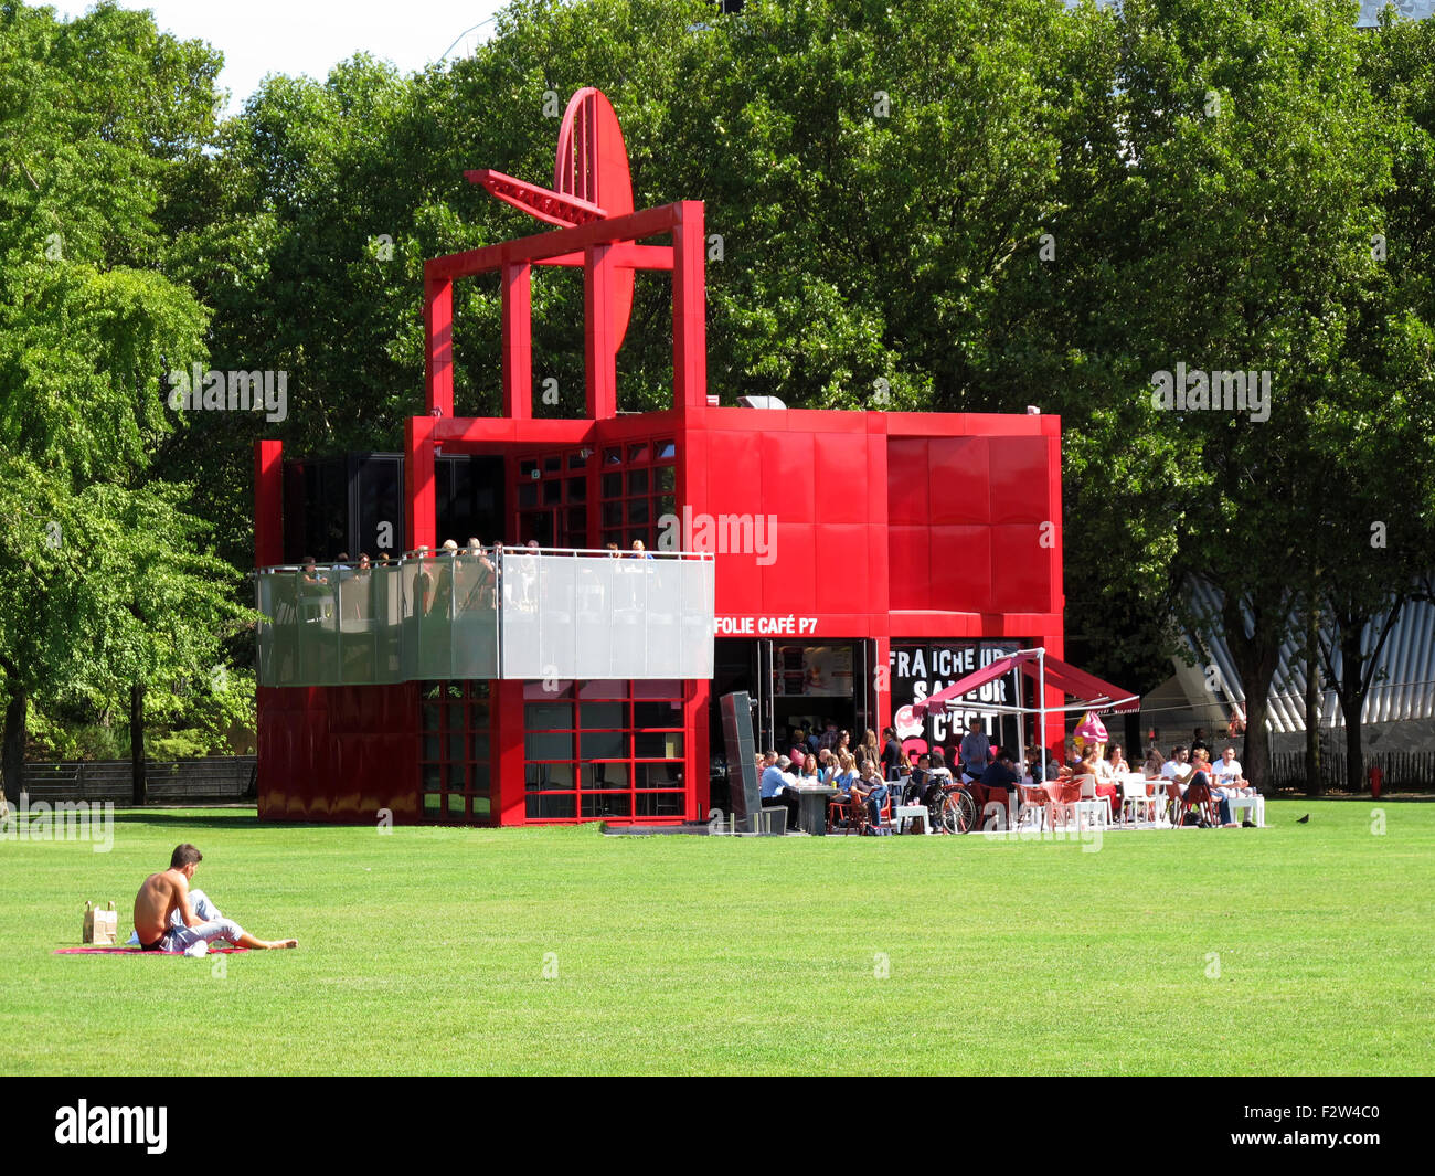
[[461, 549], [255, 582], [263, 686], [713, 673], [706, 553]]

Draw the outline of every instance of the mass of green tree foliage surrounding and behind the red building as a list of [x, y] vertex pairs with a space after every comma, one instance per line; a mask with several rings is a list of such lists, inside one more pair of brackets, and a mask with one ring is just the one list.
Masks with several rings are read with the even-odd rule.
[[[29, 462], [7, 481], [43, 488], [6, 501], [86, 534], [100, 508], [155, 517], [113, 497], [151, 494], [148, 470], [192, 484], [245, 567], [254, 438], [399, 448], [423, 258], [540, 231], [464, 171], [548, 182], [557, 116], [593, 85], [637, 205], [706, 202], [715, 392], [1059, 412], [1071, 656], [1151, 686], [1178, 622], [1220, 626], [1258, 729], [1300, 602], [1366, 625], [1435, 533], [1435, 22], [1355, 14], [517, 0], [465, 59], [270, 76], [214, 128], [214, 50], [112, 6], [62, 24], [0, 4], [0, 437]], [[498, 411], [498, 316], [497, 283], [458, 284], [459, 412]], [[581, 411], [581, 323], [578, 276], [537, 273], [535, 382], [561, 392], [540, 414]], [[669, 330], [667, 277], [640, 274], [623, 408], [667, 402]], [[287, 372], [288, 418], [177, 419], [159, 373], [195, 360]], [[1178, 366], [1269, 372], [1269, 419], [1158, 406]], [[102, 485], [103, 507], [83, 497]], [[159, 534], [202, 551], [185, 524]], [[4, 543], [27, 553], [0, 554], [16, 600], [27, 574], [83, 574], [33, 531]]]

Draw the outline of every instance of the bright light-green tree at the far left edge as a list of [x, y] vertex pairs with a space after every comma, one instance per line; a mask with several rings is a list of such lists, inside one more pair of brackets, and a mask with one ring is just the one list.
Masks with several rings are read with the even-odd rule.
[[189, 490], [146, 477], [165, 356], [205, 313], [162, 273], [169, 168], [212, 125], [218, 57], [99, 4], [0, 6], [0, 692], [4, 778], [27, 706], [112, 701], [215, 656], [224, 564]]

